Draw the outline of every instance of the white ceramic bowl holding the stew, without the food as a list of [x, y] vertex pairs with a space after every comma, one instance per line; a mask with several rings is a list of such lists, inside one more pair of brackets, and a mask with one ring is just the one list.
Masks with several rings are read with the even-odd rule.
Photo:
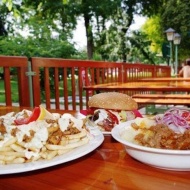
[[124, 140], [121, 134], [130, 127], [132, 122], [134, 122], [134, 120], [117, 125], [111, 132], [113, 138], [125, 146], [126, 152], [131, 157], [160, 169], [190, 171], [190, 150], [149, 148]]

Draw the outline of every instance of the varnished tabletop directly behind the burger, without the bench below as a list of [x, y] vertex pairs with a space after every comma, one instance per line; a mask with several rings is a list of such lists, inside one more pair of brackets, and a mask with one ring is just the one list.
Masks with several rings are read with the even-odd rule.
[[190, 91], [190, 81], [135, 81], [135, 82], [115, 82], [97, 85], [84, 86], [84, 90], [100, 91]]

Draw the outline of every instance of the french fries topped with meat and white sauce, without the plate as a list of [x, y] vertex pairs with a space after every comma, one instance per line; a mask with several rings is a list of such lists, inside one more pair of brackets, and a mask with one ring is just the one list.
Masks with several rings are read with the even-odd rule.
[[0, 164], [50, 160], [92, 138], [85, 119], [50, 113], [39, 106], [0, 116]]

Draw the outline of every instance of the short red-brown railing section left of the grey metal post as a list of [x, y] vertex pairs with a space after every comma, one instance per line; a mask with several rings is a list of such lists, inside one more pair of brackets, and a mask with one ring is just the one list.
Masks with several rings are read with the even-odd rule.
[[[27, 57], [0, 56], [0, 69], [2, 75], [1, 80], [3, 81], [3, 87], [1, 88], [4, 88], [1, 89], [1, 93], [5, 98], [3, 103], [6, 106], [12, 106], [16, 101], [13, 97], [13, 91], [16, 91], [18, 93], [18, 105], [30, 106], [28, 77], [25, 74], [28, 71]], [[14, 89], [11, 83], [11, 77], [13, 76], [14, 86], [17, 86], [17, 89]]]

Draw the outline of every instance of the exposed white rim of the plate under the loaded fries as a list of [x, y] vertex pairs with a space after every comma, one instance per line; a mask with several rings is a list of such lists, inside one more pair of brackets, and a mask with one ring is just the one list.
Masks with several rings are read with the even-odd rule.
[[14, 174], [27, 171], [33, 171], [37, 169], [47, 168], [50, 166], [55, 166], [58, 164], [63, 164], [71, 160], [80, 158], [93, 150], [95, 150], [99, 145], [102, 144], [104, 140], [103, 134], [98, 129], [90, 130], [92, 138], [90, 142], [84, 146], [73, 149], [71, 152], [57, 156], [52, 160], [39, 160], [24, 164], [11, 164], [11, 165], [0, 165], [0, 174]]

